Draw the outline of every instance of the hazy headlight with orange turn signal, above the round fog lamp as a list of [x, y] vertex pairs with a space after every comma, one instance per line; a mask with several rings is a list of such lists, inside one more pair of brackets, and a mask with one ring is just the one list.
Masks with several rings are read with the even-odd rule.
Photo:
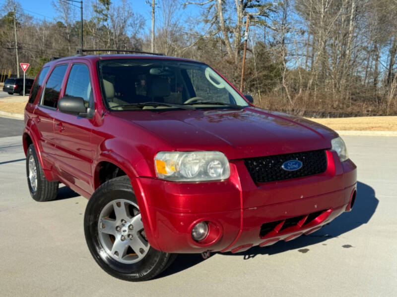
[[183, 182], [224, 180], [229, 161], [220, 151], [160, 151], [154, 158], [157, 177]]

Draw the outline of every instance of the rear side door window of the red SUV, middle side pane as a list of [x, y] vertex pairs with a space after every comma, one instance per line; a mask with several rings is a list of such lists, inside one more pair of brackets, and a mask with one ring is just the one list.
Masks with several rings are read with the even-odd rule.
[[66, 69], [67, 65], [60, 65], [54, 68], [48, 78], [46, 88], [44, 90], [43, 105], [54, 108], [57, 107], [59, 93], [61, 91]]

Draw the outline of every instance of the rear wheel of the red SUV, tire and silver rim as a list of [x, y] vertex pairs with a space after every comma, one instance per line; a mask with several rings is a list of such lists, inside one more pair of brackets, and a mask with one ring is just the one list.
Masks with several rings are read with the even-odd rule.
[[26, 153], [26, 176], [30, 196], [34, 200], [43, 202], [57, 198], [59, 182], [46, 179], [33, 145], [29, 146]]

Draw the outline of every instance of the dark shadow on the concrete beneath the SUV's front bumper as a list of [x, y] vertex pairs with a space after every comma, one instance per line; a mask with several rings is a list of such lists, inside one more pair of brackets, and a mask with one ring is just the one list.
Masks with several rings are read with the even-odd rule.
[[[227, 256], [243, 256], [245, 260], [254, 258], [257, 255], [272, 255], [290, 249], [303, 248], [310, 245], [326, 242], [330, 238], [335, 238], [343, 233], [351, 231], [362, 224], [366, 224], [371, 219], [378, 207], [379, 200], [375, 197], [375, 191], [370, 186], [357, 182], [357, 199], [352, 211], [344, 212], [329, 225], [326, 225], [317, 232], [307, 236], [301, 236], [290, 242], [278, 242], [270, 247], [252, 247], [241, 253], [222, 253]], [[350, 245], [345, 245], [350, 247]], [[308, 249], [306, 249], [307, 251]], [[302, 251], [302, 252], [306, 252]], [[158, 278], [165, 277], [182, 270], [188, 269], [204, 261], [200, 254], [180, 254], [175, 262]]]

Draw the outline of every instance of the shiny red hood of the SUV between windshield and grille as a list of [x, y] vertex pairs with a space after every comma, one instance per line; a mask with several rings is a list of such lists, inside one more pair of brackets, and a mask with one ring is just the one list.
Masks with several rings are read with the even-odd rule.
[[219, 150], [229, 159], [331, 148], [332, 130], [287, 114], [241, 110], [121, 111], [175, 150]]

